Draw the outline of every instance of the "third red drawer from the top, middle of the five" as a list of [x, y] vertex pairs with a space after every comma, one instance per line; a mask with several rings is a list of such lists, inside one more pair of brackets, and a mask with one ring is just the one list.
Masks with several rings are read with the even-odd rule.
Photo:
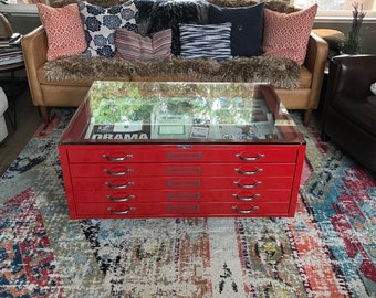
[[279, 178], [198, 178], [198, 177], [140, 177], [140, 178], [75, 178], [73, 190], [160, 190], [160, 189], [236, 189], [236, 190], [259, 190], [259, 189], [289, 189], [292, 187], [292, 177]]

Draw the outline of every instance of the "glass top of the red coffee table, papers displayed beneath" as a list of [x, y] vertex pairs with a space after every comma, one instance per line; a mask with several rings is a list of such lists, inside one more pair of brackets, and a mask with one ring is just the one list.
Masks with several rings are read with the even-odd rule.
[[304, 139], [268, 84], [96, 81], [61, 138], [61, 143], [92, 142]]

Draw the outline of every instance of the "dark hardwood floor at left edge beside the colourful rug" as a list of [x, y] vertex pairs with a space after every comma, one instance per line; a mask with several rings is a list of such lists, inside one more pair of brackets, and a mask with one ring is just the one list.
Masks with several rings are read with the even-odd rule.
[[[8, 102], [14, 100], [8, 98]], [[35, 130], [42, 125], [38, 108], [32, 104], [29, 88], [15, 99], [17, 108], [17, 129], [14, 130], [8, 115], [6, 121], [8, 127], [8, 137], [0, 145], [0, 177], [6, 172], [19, 152], [29, 142]], [[8, 113], [12, 115], [9, 108]]]

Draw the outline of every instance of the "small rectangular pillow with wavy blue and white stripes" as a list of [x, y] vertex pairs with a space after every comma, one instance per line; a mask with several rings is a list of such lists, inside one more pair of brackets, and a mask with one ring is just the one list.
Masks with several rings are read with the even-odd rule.
[[230, 22], [208, 25], [179, 24], [179, 30], [182, 57], [232, 58]]

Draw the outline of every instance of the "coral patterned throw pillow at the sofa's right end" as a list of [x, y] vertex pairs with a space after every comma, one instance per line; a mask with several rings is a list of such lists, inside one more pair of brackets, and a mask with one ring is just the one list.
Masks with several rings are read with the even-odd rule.
[[293, 13], [264, 10], [263, 50], [267, 56], [303, 64], [317, 4]]

